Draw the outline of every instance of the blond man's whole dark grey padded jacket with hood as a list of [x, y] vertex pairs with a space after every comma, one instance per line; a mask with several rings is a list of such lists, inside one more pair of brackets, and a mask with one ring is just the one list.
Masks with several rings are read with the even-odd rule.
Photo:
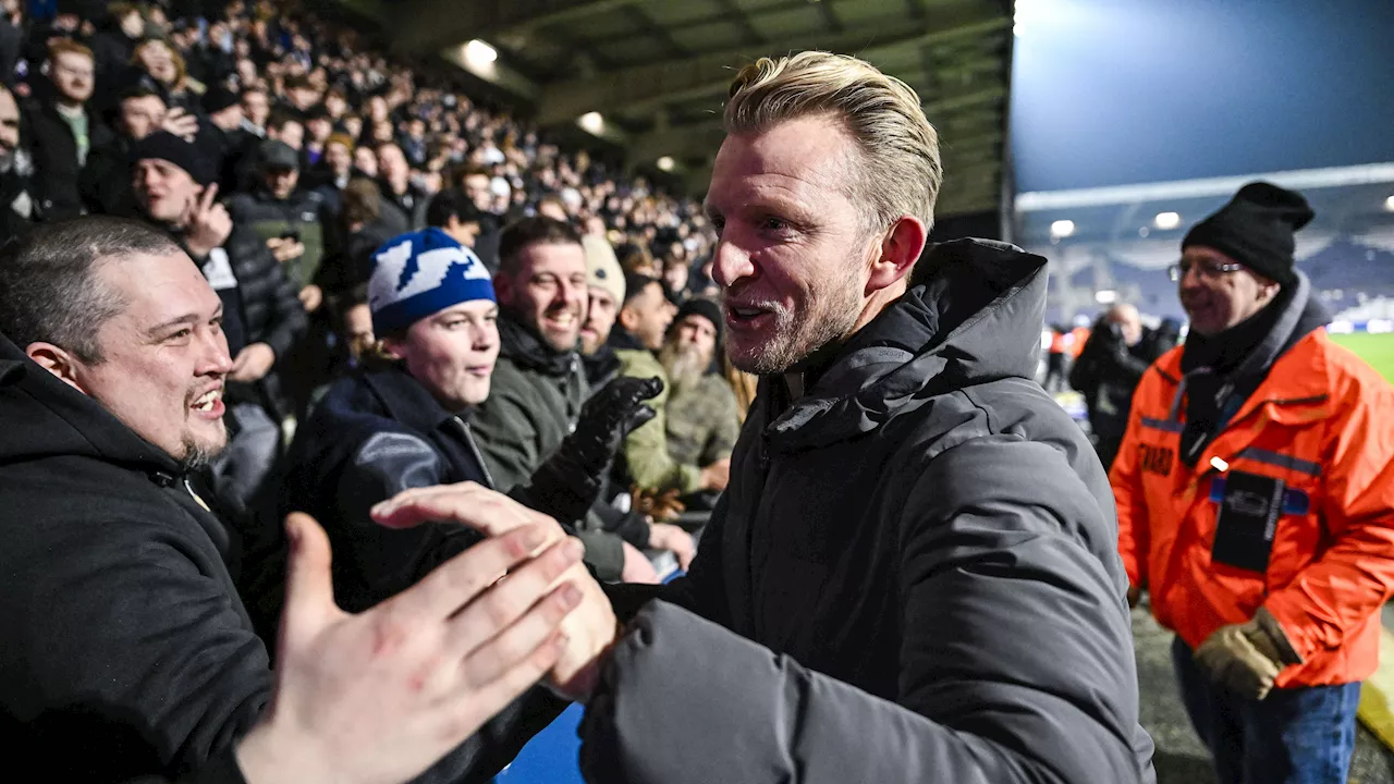
[[588, 706], [588, 781], [1153, 781], [1108, 483], [1032, 381], [1046, 279], [938, 246], [803, 398], [763, 379]]

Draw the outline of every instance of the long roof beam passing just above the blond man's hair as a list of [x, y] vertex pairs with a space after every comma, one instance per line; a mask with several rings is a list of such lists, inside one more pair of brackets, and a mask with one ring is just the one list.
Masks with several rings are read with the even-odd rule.
[[[959, 36], [974, 36], [1004, 29], [1011, 21], [1002, 15], [973, 13], [937, 17], [931, 25], [898, 38], [882, 38], [884, 29], [859, 29], [846, 33], [821, 33], [781, 45], [790, 49], [831, 49], [857, 52], [866, 60], [877, 61], [878, 53], [889, 53], [906, 45], [923, 45]], [[867, 42], [877, 42], [864, 47]], [[719, 96], [736, 75], [735, 66], [750, 61], [749, 49], [701, 54], [684, 60], [654, 63], [602, 74], [595, 80], [572, 80], [548, 85], [542, 91], [538, 121], [544, 126], [563, 123], [587, 112], [606, 107], [627, 112], [703, 96]], [[1005, 89], [1002, 91], [1005, 95]]]

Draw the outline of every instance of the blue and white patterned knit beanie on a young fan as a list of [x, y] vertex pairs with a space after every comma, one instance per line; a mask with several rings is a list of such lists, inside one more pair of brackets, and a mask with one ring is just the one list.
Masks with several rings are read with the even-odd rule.
[[489, 271], [474, 251], [441, 229], [393, 237], [372, 254], [368, 310], [378, 335], [392, 335], [471, 300], [496, 301]]

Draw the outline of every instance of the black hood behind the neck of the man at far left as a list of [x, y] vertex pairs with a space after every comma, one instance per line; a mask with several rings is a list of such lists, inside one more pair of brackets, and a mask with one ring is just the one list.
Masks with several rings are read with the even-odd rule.
[[0, 465], [88, 456], [171, 477], [178, 462], [137, 435], [96, 400], [59, 381], [0, 335]]

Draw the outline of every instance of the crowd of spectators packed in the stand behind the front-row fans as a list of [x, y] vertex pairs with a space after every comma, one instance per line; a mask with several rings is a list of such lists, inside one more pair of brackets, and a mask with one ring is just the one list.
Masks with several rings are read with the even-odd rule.
[[[700, 204], [625, 176], [597, 151], [563, 149], [475, 102], [446, 68], [395, 61], [296, 0], [0, 4], [0, 241], [116, 215], [169, 232], [199, 264], [231, 314], [233, 439], [210, 467], [234, 509], [262, 488], [287, 425], [382, 338], [367, 287], [372, 254], [392, 237], [439, 227], [496, 273], [506, 226], [566, 223], [585, 236], [592, 272], [606, 258], [620, 266], [612, 280], [654, 283], [655, 357], [677, 308], [715, 293], [715, 236]], [[623, 285], [619, 299], [616, 311]], [[703, 312], [719, 321], [715, 307]], [[615, 339], [625, 324], [613, 322]], [[710, 346], [719, 324], [701, 332], [705, 365], [684, 359], [682, 391], [697, 388], [694, 372], [723, 374], [740, 417], [753, 379], [722, 367]], [[733, 432], [732, 406], [719, 423], [700, 419], [707, 407], [686, 405], [673, 427], [689, 439]], [[654, 453], [659, 467], [630, 465], [625, 478], [659, 477], [633, 483], [655, 494], [717, 491], [732, 441], [689, 445], [676, 463]]]

